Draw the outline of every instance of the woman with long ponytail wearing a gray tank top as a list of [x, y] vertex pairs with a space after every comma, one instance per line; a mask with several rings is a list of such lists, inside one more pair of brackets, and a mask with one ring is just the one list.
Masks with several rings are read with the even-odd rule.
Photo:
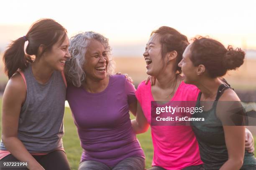
[[5, 51], [9, 81], [3, 94], [1, 161], [23, 161], [30, 170], [70, 169], [62, 144], [68, 47], [67, 30], [42, 19]]

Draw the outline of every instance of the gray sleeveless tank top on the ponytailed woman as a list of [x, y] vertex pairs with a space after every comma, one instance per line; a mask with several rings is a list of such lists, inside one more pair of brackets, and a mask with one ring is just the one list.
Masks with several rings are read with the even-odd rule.
[[[27, 95], [20, 110], [18, 138], [30, 153], [63, 148], [66, 86], [61, 72], [54, 71], [46, 84], [36, 81], [31, 65], [23, 73]], [[2, 140], [0, 150], [6, 150]]]

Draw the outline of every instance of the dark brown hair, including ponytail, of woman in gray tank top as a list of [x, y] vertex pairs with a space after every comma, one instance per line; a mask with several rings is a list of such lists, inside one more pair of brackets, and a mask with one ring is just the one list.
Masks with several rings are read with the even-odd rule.
[[[20, 37], [10, 43], [3, 55], [3, 62], [5, 64], [5, 73], [8, 78], [18, 70], [24, 70], [29, 63], [33, 62], [30, 55], [41, 57], [41, 55], [51, 50], [51, 47], [61, 40], [64, 41], [67, 30], [52, 19], [41, 19], [36, 21], [28, 30], [26, 36]], [[24, 52], [24, 44], [28, 40], [26, 53]], [[38, 54], [38, 48], [44, 45], [43, 51]]]

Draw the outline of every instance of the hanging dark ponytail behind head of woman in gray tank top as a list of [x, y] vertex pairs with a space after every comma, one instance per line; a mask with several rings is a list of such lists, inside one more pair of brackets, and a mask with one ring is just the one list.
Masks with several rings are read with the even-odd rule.
[[18, 70], [24, 70], [28, 67], [28, 63], [32, 62], [29, 55], [24, 52], [25, 40], [23, 37], [13, 41], [3, 55], [3, 62], [5, 63], [5, 72], [8, 78]]

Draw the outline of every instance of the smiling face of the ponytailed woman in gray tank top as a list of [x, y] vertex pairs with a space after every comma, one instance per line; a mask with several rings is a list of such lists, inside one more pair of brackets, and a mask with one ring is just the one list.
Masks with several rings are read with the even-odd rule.
[[47, 63], [53, 70], [63, 71], [65, 62], [70, 58], [70, 53], [68, 50], [69, 38], [65, 35], [65, 39], [62, 42], [61, 38], [56, 42], [51, 50], [43, 54], [42, 60]]

